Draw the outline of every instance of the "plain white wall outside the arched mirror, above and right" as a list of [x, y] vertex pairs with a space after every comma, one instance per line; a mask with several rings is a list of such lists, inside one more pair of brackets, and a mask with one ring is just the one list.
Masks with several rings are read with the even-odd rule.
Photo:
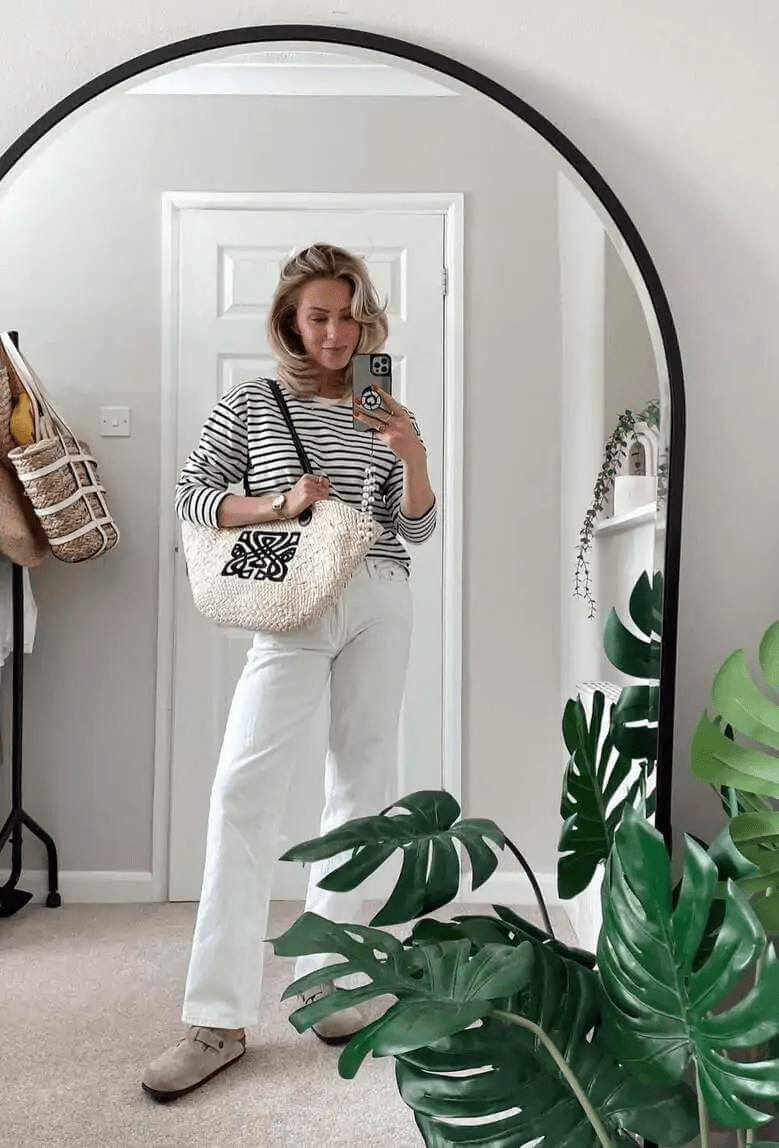
[[[716, 667], [734, 646], [754, 647], [777, 616], [779, 9], [773, 0], [363, 0], [335, 13], [325, 0], [39, 0], [23, 13], [0, 0], [0, 147], [131, 56], [273, 22], [364, 28], [486, 72], [577, 144], [641, 232], [687, 386], [675, 822], [712, 832], [717, 802], [688, 770], [692, 730]], [[513, 747], [494, 752], [508, 759]]]

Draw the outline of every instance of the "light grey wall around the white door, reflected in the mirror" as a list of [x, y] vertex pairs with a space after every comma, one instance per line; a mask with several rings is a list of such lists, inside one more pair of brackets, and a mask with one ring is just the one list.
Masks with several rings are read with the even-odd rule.
[[[539, 871], [552, 870], [554, 163], [481, 98], [114, 99], [41, 148], [0, 197], [0, 323], [21, 331], [62, 413], [98, 451], [122, 528], [103, 559], [33, 572], [25, 786], [62, 868], [151, 866], [164, 189], [465, 192], [463, 805], [497, 817]], [[98, 437], [98, 409], [114, 404], [132, 408], [130, 439]], [[36, 851], [42, 862], [31, 843], [29, 866]]]

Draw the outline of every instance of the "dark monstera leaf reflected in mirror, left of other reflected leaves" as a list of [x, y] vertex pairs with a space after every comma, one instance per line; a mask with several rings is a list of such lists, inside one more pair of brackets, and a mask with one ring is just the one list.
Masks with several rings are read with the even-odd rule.
[[589, 723], [579, 698], [568, 701], [563, 713], [562, 735], [570, 754], [562, 785], [563, 825], [558, 844], [561, 854], [558, 891], [563, 899], [587, 887], [599, 863], [609, 854], [625, 805], [632, 805], [641, 789], [639, 775], [629, 792], [616, 799], [632, 762], [622, 753], [615, 755], [610, 729], [598, 751], [603, 708], [603, 693], [597, 690]]

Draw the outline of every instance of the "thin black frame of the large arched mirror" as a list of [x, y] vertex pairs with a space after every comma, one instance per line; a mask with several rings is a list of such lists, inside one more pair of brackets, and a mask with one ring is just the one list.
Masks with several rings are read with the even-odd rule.
[[107, 92], [141, 72], [173, 60], [181, 60], [201, 52], [212, 52], [218, 48], [237, 47], [247, 44], [267, 42], [271, 40], [309, 41], [368, 48], [387, 55], [398, 56], [422, 64], [434, 71], [451, 76], [469, 87], [500, 103], [520, 119], [523, 119], [542, 135], [560, 155], [576, 170], [592, 193], [600, 201], [608, 216], [614, 222], [625, 241], [636, 265], [646, 285], [654, 308], [669, 374], [671, 397], [671, 427], [669, 436], [669, 474], [668, 507], [665, 533], [665, 567], [663, 621], [660, 667], [660, 713], [657, 734], [657, 812], [655, 823], [671, 850], [671, 785], [673, 771], [673, 715], [676, 698], [676, 651], [678, 631], [679, 565], [681, 551], [681, 509], [684, 494], [684, 451], [685, 451], [685, 393], [681, 370], [681, 355], [665, 292], [657, 271], [652, 262], [641, 236], [633, 222], [614, 194], [609, 185], [590, 163], [585, 155], [571, 144], [558, 127], [539, 111], [525, 103], [508, 88], [468, 68], [466, 64], [451, 60], [449, 56], [428, 48], [408, 44], [394, 37], [380, 36], [357, 29], [328, 26], [318, 24], [265, 24], [255, 28], [233, 28], [218, 32], [195, 36], [178, 40], [145, 52], [133, 60], [109, 69], [95, 79], [71, 92], [56, 103], [49, 111], [37, 119], [18, 139], [0, 155], [0, 179], [30, 150], [44, 135], [67, 116], [83, 107], [89, 100]]

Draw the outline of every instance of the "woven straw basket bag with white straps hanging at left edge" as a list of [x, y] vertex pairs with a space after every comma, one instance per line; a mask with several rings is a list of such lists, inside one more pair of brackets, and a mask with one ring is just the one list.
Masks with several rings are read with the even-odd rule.
[[119, 541], [106, 503], [98, 464], [44, 394], [30, 364], [2, 332], [0, 342], [17, 381], [30, 398], [33, 441], [14, 448], [16, 468], [48, 538], [52, 553], [64, 563], [98, 558]]

